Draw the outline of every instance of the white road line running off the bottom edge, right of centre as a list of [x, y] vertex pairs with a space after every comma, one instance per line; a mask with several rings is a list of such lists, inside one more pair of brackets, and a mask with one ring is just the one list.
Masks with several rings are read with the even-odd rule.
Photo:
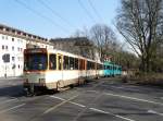
[[100, 109], [97, 109], [97, 108], [89, 108], [90, 110], [93, 110], [93, 111], [98, 111], [98, 112], [101, 112], [101, 113], [105, 113], [105, 114], [111, 114], [113, 117], [116, 117], [116, 118], [120, 118], [120, 119], [124, 119], [126, 121], [135, 121], [133, 119], [129, 119], [129, 118], [125, 118], [125, 117], [122, 117], [122, 116], [118, 116], [118, 114], [114, 114], [114, 113], [111, 113], [111, 112], [108, 112], [108, 111], [103, 111], [103, 110], [100, 110]]

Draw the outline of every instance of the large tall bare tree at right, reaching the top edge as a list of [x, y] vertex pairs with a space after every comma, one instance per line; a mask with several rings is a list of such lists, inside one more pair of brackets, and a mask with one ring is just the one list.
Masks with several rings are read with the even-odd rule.
[[116, 27], [141, 59], [140, 68], [151, 71], [163, 25], [162, 0], [122, 0]]

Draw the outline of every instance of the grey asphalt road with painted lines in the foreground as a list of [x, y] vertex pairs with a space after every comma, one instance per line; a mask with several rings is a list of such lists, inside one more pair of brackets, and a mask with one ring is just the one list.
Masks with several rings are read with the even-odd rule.
[[163, 88], [100, 78], [26, 97], [21, 80], [0, 81], [0, 121], [163, 121]]

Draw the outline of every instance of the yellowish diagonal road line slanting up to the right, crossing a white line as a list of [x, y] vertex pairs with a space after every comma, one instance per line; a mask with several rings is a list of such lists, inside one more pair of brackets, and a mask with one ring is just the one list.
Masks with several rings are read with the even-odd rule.
[[43, 114], [49, 113], [50, 111], [52, 111], [52, 110], [57, 109], [58, 107], [60, 107], [60, 106], [62, 106], [62, 105], [64, 105], [64, 104], [68, 102], [70, 100], [75, 99], [77, 96], [78, 96], [78, 95], [73, 96], [73, 97], [72, 97], [72, 98], [70, 98], [70, 99], [64, 100], [64, 101], [60, 102], [59, 105], [55, 105], [55, 106], [53, 106], [53, 107], [49, 108], [48, 110], [46, 110], [46, 111], [42, 113], [42, 116], [43, 116]]

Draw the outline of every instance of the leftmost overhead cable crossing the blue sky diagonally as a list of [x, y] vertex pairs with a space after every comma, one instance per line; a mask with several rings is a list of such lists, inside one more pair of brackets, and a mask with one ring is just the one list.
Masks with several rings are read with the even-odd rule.
[[57, 24], [53, 20], [47, 17], [46, 15], [39, 13], [38, 11], [34, 10], [33, 8], [28, 7], [26, 3], [15, 0], [18, 4], [23, 5], [24, 8], [26, 8], [27, 10], [29, 10], [30, 12], [37, 14], [38, 16], [49, 21], [51, 24], [53, 24], [54, 26], [58, 26], [59, 28], [61, 28], [63, 32], [68, 33], [67, 29], [65, 29], [64, 27], [62, 27], [61, 25]]

